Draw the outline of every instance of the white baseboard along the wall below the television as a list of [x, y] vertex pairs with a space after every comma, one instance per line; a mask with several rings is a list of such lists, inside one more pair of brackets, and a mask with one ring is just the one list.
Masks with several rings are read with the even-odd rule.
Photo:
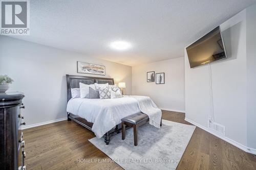
[[198, 123], [194, 122], [193, 120], [190, 120], [190, 119], [188, 119], [188, 118], [186, 118], [186, 117], [185, 117], [185, 120], [186, 120], [187, 122], [189, 122], [189, 123], [191, 123], [191, 124], [197, 126], [198, 128], [201, 128], [201, 129], [205, 130], [206, 132], [209, 132], [210, 134], [215, 135], [215, 136], [221, 138], [222, 140], [225, 140], [226, 142], [228, 142], [228, 143], [234, 145], [235, 147], [238, 147], [239, 149], [241, 149], [241, 150], [243, 150], [243, 151], [245, 151], [245, 152], [247, 152], [247, 153], [256, 155], [256, 149], [248, 148], [248, 147], [246, 147], [245, 145], [243, 145], [243, 144], [241, 144], [241, 143], [239, 143], [239, 142], [237, 142], [237, 141], [234, 141], [234, 140], [232, 140], [232, 139], [230, 139], [230, 138], [228, 138], [228, 137], [226, 137], [226, 136], [223, 136], [223, 135], [221, 135], [221, 134], [218, 134], [218, 133], [212, 131], [211, 129], [206, 128], [206, 127], [204, 127], [204, 126], [202, 126], [202, 125], [200, 125], [200, 124], [198, 124]]

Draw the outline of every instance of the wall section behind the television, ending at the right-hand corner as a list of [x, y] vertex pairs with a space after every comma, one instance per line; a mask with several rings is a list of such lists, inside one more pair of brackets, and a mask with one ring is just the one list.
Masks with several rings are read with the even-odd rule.
[[[226, 137], [246, 145], [246, 12], [221, 25], [227, 58], [211, 64], [215, 122]], [[191, 69], [185, 51], [186, 118], [208, 128], [208, 65]]]

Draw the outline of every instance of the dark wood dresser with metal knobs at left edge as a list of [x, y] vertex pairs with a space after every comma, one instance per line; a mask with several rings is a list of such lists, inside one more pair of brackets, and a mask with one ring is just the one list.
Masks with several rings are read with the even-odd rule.
[[25, 140], [20, 126], [25, 125], [20, 109], [24, 94], [20, 92], [0, 93], [0, 169], [26, 169], [24, 158]]

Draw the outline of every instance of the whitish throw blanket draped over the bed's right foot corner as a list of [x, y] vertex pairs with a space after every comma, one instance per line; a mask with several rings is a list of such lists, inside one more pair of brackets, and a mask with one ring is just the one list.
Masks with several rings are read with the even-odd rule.
[[162, 118], [162, 111], [156, 106], [156, 104], [148, 96], [131, 95], [131, 98], [137, 100], [140, 111], [145, 113], [150, 118], [150, 125], [160, 129], [160, 123]]

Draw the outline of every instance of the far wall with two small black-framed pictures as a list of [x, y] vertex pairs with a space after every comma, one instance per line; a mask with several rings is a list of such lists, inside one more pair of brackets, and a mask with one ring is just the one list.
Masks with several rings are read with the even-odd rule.
[[[165, 84], [147, 82], [146, 72], [164, 72]], [[184, 57], [132, 67], [132, 94], [147, 95], [162, 109], [184, 112]]]

